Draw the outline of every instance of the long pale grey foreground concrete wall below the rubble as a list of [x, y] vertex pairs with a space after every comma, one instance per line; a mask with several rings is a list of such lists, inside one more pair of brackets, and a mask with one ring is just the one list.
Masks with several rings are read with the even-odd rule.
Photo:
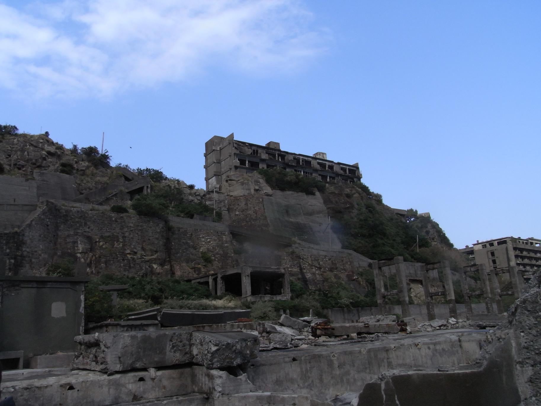
[[446, 331], [268, 351], [250, 362], [247, 374], [259, 390], [326, 401], [337, 394], [360, 392], [366, 383], [388, 370], [472, 363], [481, 345], [487, 343], [486, 332]]

